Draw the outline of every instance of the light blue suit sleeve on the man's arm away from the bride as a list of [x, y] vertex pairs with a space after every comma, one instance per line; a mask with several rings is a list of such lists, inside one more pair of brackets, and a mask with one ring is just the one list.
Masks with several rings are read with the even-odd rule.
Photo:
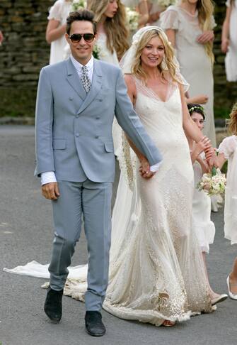
[[53, 95], [50, 78], [43, 68], [37, 88], [35, 109], [35, 175], [54, 171], [54, 156], [52, 149], [53, 125]]

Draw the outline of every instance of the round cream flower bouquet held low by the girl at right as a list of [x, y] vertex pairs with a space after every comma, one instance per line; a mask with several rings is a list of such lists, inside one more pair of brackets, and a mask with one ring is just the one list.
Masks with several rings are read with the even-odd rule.
[[200, 182], [197, 183], [197, 189], [212, 197], [212, 195], [224, 193], [226, 188], [226, 176], [221, 173], [221, 170], [212, 168], [212, 172], [203, 174]]

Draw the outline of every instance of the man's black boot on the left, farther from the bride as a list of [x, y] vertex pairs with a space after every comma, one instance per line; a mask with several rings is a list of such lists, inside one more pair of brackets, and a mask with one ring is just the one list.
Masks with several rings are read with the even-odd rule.
[[58, 323], [62, 317], [62, 295], [64, 290], [56, 291], [52, 288], [47, 289], [45, 300], [45, 314], [51, 321]]

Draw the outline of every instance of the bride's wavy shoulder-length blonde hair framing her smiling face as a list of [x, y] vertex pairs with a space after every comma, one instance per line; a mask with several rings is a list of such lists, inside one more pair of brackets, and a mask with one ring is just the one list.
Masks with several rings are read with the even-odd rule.
[[[137, 43], [137, 51], [131, 68], [132, 75], [146, 82], [146, 73], [144, 72], [141, 66], [141, 53], [142, 50], [146, 47], [146, 45], [149, 43], [149, 41], [154, 37], [158, 37], [161, 39], [165, 50], [163, 62], [161, 62], [161, 64], [157, 66], [158, 70], [161, 72], [161, 77], [164, 77], [164, 72], [168, 70], [172, 79], [176, 82], [180, 82], [176, 75], [177, 65], [174, 62], [174, 50], [170, 42], [168, 41], [166, 34], [163, 31], [159, 31], [156, 29], [146, 31]], [[166, 66], [166, 69], [164, 69], [163, 65]]]

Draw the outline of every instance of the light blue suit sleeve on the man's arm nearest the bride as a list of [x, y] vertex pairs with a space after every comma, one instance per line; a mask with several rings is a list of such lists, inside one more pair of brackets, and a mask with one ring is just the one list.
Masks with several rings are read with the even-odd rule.
[[127, 87], [121, 71], [119, 72], [116, 83], [115, 116], [118, 124], [120, 124], [134, 145], [147, 158], [149, 164], [155, 165], [161, 162], [161, 153], [146, 133], [137, 113], [133, 109], [132, 102], [127, 95]]

